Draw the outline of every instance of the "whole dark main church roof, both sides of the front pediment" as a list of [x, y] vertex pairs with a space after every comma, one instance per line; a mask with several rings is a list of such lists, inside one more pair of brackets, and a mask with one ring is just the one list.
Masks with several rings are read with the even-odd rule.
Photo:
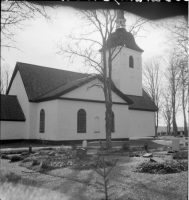
[[[11, 84], [18, 70], [25, 86], [28, 99], [31, 102], [57, 99], [63, 94], [66, 94], [91, 80], [96, 78], [101, 80], [99, 75], [91, 76], [89, 74], [18, 62], [13, 72], [7, 94], [9, 93]], [[129, 104], [130, 109], [157, 111], [154, 102], [144, 90], [142, 97], [125, 95], [114, 85], [112, 90]]]

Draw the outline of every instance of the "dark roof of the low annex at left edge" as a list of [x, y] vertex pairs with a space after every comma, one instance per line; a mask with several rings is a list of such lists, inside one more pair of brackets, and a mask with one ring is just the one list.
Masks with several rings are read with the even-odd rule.
[[26, 120], [16, 96], [1, 95], [1, 120], [2, 121]]

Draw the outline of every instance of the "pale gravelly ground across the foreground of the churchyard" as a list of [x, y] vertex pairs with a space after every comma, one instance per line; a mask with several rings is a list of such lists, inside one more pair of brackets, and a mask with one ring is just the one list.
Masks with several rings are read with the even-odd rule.
[[[141, 146], [143, 144], [135, 141]], [[162, 148], [162, 144], [159, 148]], [[47, 151], [46, 151], [47, 152]], [[89, 151], [90, 152], [90, 151]], [[162, 154], [162, 152], [161, 152]], [[111, 199], [123, 200], [186, 200], [188, 194], [188, 172], [175, 174], [136, 173], [134, 168], [149, 158], [129, 157], [127, 153], [117, 154], [116, 167], [110, 173], [109, 189]], [[111, 156], [111, 158], [113, 158]], [[26, 164], [1, 159], [1, 177], [13, 172], [21, 179], [18, 183], [1, 182], [0, 198], [4, 199], [103, 199], [101, 177], [92, 169], [78, 170], [57, 168], [47, 171], [33, 171]], [[29, 162], [26, 162], [29, 163]], [[22, 167], [22, 166], [25, 167]], [[9, 191], [9, 192], [7, 192]]]

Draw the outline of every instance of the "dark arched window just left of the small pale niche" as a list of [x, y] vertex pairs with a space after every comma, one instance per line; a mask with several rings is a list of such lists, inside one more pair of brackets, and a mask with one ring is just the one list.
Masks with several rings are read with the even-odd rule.
[[77, 132], [86, 133], [86, 112], [83, 109], [77, 113]]

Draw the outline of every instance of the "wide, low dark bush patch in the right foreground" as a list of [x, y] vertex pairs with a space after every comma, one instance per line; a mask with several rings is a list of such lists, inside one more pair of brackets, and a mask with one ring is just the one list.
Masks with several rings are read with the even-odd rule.
[[178, 173], [188, 170], [188, 162], [167, 161], [163, 163], [158, 162], [144, 162], [140, 164], [135, 172], [150, 173], [150, 174], [169, 174]]

